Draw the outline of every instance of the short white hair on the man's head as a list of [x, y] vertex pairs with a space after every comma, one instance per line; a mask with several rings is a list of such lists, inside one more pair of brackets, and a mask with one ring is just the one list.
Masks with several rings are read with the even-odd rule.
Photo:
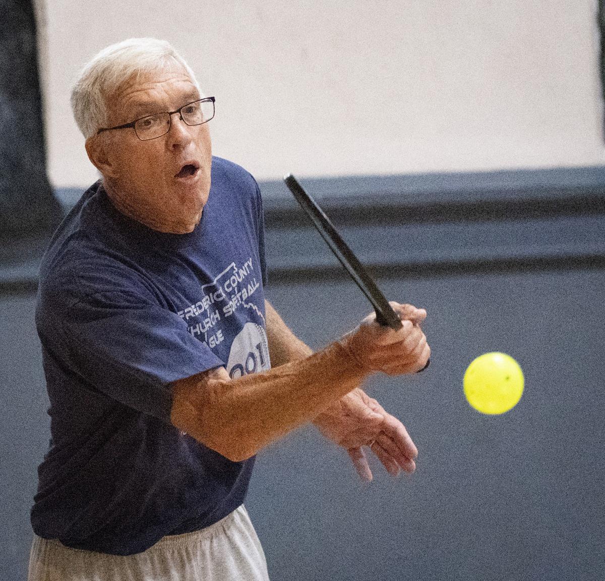
[[189, 65], [167, 41], [129, 38], [106, 48], [80, 71], [71, 91], [71, 110], [86, 139], [107, 124], [106, 99], [124, 82], [139, 75], [180, 65], [200, 90]]

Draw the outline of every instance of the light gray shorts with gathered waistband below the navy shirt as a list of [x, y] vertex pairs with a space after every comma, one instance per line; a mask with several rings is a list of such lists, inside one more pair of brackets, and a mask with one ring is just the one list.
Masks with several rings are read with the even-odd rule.
[[267, 562], [244, 505], [201, 531], [168, 536], [120, 557], [71, 549], [34, 535], [28, 581], [268, 581]]

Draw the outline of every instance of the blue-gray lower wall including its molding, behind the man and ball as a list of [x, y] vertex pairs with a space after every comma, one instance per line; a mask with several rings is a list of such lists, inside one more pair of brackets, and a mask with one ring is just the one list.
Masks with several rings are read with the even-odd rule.
[[[310, 428], [260, 454], [247, 506], [273, 580], [601, 579], [605, 169], [303, 181], [391, 299], [427, 308], [431, 367], [367, 390], [419, 448], [358, 482]], [[278, 183], [261, 184], [270, 300], [313, 347], [370, 308]], [[39, 248], [0, 256], [0, 577], [24, 576], [48, 440], [33, 328]], [[462, 375], [505, 351], [526, 388], [482, 416]]]

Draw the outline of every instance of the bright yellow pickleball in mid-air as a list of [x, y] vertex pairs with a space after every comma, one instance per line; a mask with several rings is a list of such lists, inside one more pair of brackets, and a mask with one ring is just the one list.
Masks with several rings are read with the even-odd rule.
[[523, 394], [523, 371], [506, 353], [485, 353], [466, 368], [464, 394], [482, 414], [503, 414]]

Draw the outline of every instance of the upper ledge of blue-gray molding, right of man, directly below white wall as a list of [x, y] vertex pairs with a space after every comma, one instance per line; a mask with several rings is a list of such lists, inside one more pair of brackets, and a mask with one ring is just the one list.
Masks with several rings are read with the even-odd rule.
[[[427, 173], [394, 176], [348, 176], [299, 179], [322, 205], [342, 221], [370, 216], [371, 207], [393, 212], [386, 217], [401, 223], [463, 219], [500, 219], [511, 209], [603, 211], [605, 166], [501, 170], [476, 173]], [[281, 222], [298, 205], [281, 180], [259, 182], [266, 218]], [[302, 215], [302, 214], [301, 214]]]

